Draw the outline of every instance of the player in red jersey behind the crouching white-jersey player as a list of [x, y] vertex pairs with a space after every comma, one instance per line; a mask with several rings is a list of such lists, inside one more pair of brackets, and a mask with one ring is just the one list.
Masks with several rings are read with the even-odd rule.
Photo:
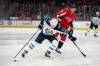
[[[60, 11], [58, 11], [55, 14], [55, 17], [59, 18], [59, 25], [57, 27], [60, 31], [65, 31], [65, 33], [56, 33], [55, 35], [60, 35], [60, 41], [58, 43], [58, 46], [56, 48], [56, 52], [61, 54], [61, 47], [63, 46], [63, 43], [66, 41], [67, 34], [69, 35], [68, 38], [71, 41], [76, 41], [76, 37], [74, 37], [73, 34], [73, 21], [76, 19], [75, 14], [76, 8], [71, 6], [69, 8], [63, 8]], [[50, 55], [50, 51], [47, 51], [46, 55]]]

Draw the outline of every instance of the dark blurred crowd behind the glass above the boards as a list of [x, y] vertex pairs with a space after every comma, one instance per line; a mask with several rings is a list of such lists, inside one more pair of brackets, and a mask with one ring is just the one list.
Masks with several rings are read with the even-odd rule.
[[100, 11], [100, 0], [0, 0], [0, 20], [39, 20], [42, 13], [51, 16], [69, 5], [77, 7], [78, 21], [87, 21]]

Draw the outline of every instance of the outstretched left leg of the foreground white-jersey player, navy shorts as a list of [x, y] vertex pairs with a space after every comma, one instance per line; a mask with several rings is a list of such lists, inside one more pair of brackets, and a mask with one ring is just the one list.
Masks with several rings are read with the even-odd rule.
[[30, 41], [28, 43], [28, 46], [24, 49], [24, 52], [22, 53], [22, 57], [25, 57], [26, 54], [28, 54], [28, 52], [32, 49], [34, 49], [38, 44], [41, 44], [43, 42], [43, 40], [45, 39], [44, 34], [40, 33], [37, 38], [35, 39], [35, 41]]

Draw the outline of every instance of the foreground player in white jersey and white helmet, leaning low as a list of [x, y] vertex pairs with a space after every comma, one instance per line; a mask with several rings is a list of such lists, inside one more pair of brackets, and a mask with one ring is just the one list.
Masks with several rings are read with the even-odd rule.
[[[30, 49], [34, 49], [37, 45], [42, 44], [42, 42], [47, 39], [50, 41], [51, 43], [51, 52], [53, 52], [56, 49], [55, 45], [58, 45], [58, 41], [56, 39], [56, 37], [54, 36], [55, 32], [59, 32], [54, 30], [53, 28], [55, 28], [58, 24], [58, 20], [57, 19], [52, 19], [52, 20], [48, 20], [48, 16], [43, 16], [43, 23], [41, 23], [39, 25], [39, 28], [41, 29], [41, 32], [39, 33], [39, 35], [37, 36], [37, 38], [35, 39], [35, 41], [31, 40], [28, 43], [28, 47], [25, 48], [24, 52], [22, 53], [22, 57], [25, 57], [26, 54], [28, 54]], [[50, 21], [50, 22], [49, 22]], [[49, 55], [46, 55], [46, 57], [50, 57]]]

